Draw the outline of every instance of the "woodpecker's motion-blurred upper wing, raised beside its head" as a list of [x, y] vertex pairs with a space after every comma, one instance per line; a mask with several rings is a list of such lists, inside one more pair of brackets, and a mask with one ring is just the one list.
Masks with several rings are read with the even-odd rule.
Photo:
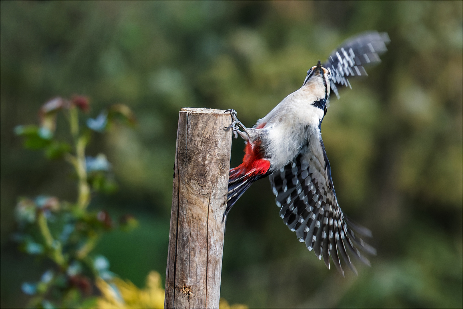
[[350, 87], [348, 76], [368, 75], [363, 65], [380, 62], [379, 55], [388, 50], [386, 44], [389, 42], [386, 32], [364, 32], [347, 39], [332, 52], [323, 66], [331, 73], [331, 90], [338, 98], [338, 86]]

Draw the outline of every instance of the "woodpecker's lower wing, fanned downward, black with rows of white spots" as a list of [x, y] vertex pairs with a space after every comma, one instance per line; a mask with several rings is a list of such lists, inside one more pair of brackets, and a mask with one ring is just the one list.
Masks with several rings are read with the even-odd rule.
[[375, 249], [359, 237], [371, 237], [371, 232], [349, 221], [339, 208], [321, 137], [320, 147], [311, 148], [312, 151], [301, 151], [305, 154], [270, 175], [276, 205], [281, 208], [280, 216], [309, 251], [313, 250], [319, 259], [323, 257], [328, 269], [331, 255], [344, 276], [340, 255], [357, 273], [348, 252], [369, 265], [369, 260], [358, 249], [376, 254]]

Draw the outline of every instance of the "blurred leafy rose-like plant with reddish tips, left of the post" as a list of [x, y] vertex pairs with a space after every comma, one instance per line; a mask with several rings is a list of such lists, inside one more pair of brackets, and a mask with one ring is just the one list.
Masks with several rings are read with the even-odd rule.
[[[19, 243], [19, 249], [26, 254], [52, 262], [38, 282], [21, 285], [25, 295], [32, 297], [28, 303], [31, 308], [87, 308], [97, 303], [97, 298], [92, 296], [95, 286], [101, 289], [118, 280], [109, 271], [109, 261], [93, 253], [101, 236], [116, 224], [105, 210], [88, 211], [91, 195], [113, 193], [117, 189], [111, 177], [111, 164], [102, 153], [96, 157], [85, 156], [85, 149], [91, 130], [105, 132], [114, 125], [116, 115], [129, 124], [133, 124], [135, 118], [127, 106], [117, 104], [101, 112], [96, 120], [87, 119], [87, 126], [82, 126], [79, 110], [87, 112], [89, 107], [84, 96], [75, 95], [72, 100], [56, 97], [40, 108], [40, 126], [14, 128], [14, 132], [24, 138], [25, 149], [43, 149], [49, 159], [64, 158], [74, 168], [77, 180], [76, 202], [46, 195], [38, 195], [34, 200], [18, 199], [15, 208], [18, 230], [12, 240]], [[58, 114], [68, 120], [67, 141], [56, 139]], [[138, 221], [129, 214], [123, 215], [117, 225], [126, 232], [137, 226]], [[109, 283], [104, 285], [105, 281]]]

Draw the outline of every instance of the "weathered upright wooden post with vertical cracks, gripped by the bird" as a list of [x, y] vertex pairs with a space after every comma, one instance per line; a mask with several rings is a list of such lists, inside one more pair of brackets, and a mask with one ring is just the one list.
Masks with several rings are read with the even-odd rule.
[[219, 308], [231, 122], [219, 109], [180, 111], [164, 308]]

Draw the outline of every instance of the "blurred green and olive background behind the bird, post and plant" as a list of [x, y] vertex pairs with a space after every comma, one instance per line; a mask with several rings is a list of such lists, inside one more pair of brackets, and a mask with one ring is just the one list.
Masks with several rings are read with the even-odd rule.
[[[91, 116], [113, 103], [137, 115], [135, 129], [116, 128], [89, 154], [105, 151], [119, 183], [91, 207], [140, 221], [96, 252], [142, 287], [150, 270], [165, 274], [179, 109], [234, 108], [251, 126], [344, 39], [378, 30], [391, 38], [382, 63], [332, 98], [322, 125], [339, 204], [373, 231], [372, 267], [328, 271], [261, 180], [229, 215], [221, 294], [251, 308], [461, 308], [462, 10], [462, 1], [2, 1], [1, 307], [25, 306], [21, 283], [45, 269], [10, 240], [17, 197], [76, 194], [66, 163], [13, 134], [38, 122], [45, 101], [82, 94]], [[234, 140], [232, 167], [243, 148]]]

